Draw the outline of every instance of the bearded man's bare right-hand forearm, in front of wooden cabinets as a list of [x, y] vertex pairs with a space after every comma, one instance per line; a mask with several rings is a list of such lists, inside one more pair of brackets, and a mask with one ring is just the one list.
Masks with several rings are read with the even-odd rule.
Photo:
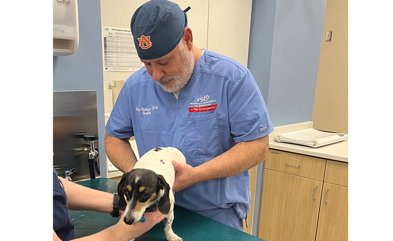
[[269, 148], [268, 136], [240, 142], [227, 152], [197, 166], [197, 182], [230, 177], [242, 173], [267, 158]]

